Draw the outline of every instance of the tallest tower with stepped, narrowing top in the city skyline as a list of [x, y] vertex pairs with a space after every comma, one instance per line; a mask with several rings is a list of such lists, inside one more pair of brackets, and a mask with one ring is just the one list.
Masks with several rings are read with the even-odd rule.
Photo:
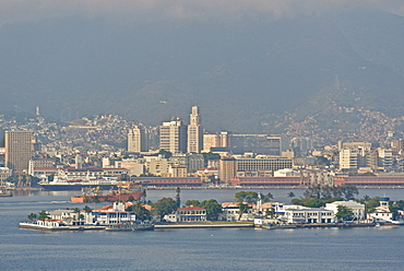
[[189, 119], [187, 150], [189, 153], [200, 153], [203, 149], [203, 133], [198, 106], [192, 106]]

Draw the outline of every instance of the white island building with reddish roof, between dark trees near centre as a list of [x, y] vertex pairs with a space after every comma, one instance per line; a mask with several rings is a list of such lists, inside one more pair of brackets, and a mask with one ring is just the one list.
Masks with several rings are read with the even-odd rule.
[[174, 213], [164, 216], [167, 222], [181, 223], [198, 223], [206, 221], [206, 210], [200, 207], [178, 208]]

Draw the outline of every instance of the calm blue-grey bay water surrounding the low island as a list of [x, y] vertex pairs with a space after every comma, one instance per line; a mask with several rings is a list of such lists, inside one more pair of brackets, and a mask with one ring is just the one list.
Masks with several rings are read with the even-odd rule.
[[[268, 192], [263, 190], [263, 192]], [[271, 190], [288, 201], [289, 190]], [[294, 190], [300, 195], [301, 190]], [[361, 190], [404, 199], [404, 190]], [[17, 223], [40, 210], [83, 207], [75, 192], [0, 199], [0, 270], [403, 270], [404, 226], [316, 229], [40, 232]], [[231, 201], [234, 190], [191, 190], [187, 199]], [[148, 191], [147, 199], [175, 197]], [[100, 204], [99, 204], [100, 205]]]

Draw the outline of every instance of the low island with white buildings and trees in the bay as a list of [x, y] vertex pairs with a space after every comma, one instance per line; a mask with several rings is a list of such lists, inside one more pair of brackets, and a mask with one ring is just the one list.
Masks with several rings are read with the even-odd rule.
[[[142, 200], [116, 201], [91, 209], [85, 205], [56, 211], [31, 213], [22, 228], [45, 231], [151, 231], [158, 228], [203, 227], [354, 227], [404, 224], [404, 200], [388, 197], [356, 199], [355, 187], [310, 187], [290, 203], [273, 200], [271, 192], [238, 191], [234, 202], [215, 199], [187, 200], [181, 205], [180, 189], [173, 198], [156, 202]], [[95, 203], [96, 204], [96, 203]]]

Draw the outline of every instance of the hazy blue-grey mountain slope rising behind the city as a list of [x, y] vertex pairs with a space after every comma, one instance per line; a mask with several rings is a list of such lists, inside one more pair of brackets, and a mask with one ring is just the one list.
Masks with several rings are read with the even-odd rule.
[[[403, 115], [404, 17], [363, 12], [120, 26], [67, 17], [0, 28], [0, 110], [146, 125], [198, 103], [207, 130], [273, 132], [330, 104]], [[344, 87], [355, 95], [343, 95]]]

